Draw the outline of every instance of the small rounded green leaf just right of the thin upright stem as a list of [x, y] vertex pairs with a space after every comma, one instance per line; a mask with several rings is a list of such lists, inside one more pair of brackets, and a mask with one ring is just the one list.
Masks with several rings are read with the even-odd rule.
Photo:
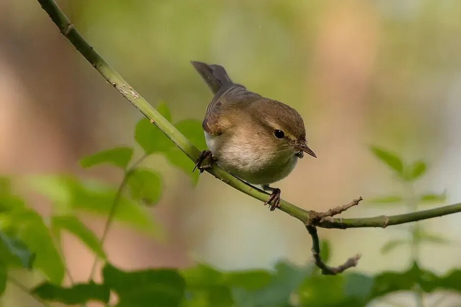
[[135, 169], [129, 173], [128, 187], [133, 199], [146, 205], [154, 205], [162, 195], [162, 178], [152, 170]]

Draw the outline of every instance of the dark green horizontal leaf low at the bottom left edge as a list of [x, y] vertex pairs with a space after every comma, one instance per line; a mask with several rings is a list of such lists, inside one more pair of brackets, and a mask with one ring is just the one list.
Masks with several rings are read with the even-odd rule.
[[109, 288], [102, 284], [79, 283], [70, 288], [52, 283], [42, 283], [33, 290], [33, 294], [45, 301], [60, 302], [66, 305], [85, 304], [89, 301], [109, 302]]

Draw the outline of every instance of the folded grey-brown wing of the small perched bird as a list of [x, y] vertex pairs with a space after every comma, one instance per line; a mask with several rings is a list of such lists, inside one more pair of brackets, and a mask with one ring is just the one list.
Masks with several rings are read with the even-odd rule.
[[[248, 91], [244, 86], [231, 84], [229, 87], [221, 87], [211, 99], [206, 108], [205, 118], [202, 122], [203, 129], [211, 135], [219, 135], [232, 125], [226, 114], [231, 114], [230, 109], [244, 108], [261, 96]], [[223, 115], [224, 114], [224, 115]]]

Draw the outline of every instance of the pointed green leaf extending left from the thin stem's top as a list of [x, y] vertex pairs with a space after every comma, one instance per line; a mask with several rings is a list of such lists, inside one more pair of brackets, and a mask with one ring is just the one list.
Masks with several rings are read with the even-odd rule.
[[82, 158], [82, 167], [91, 167], [100, 164], [112, 164], [125, 169], [131, 160], [133, 149], [129, 147], [118, 147], [98, 152], [94, 155]]

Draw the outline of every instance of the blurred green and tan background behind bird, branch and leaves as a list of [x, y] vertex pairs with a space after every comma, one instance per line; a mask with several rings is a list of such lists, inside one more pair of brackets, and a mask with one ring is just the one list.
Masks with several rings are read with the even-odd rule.
[[[366, 202], [401, 190], [370, 144], [428, 163], [415, 190], [446, 189], [447, 203], [461, 200], [460, 1], [57, 2], [112, 67], [153, 105], [166, 102], [175, 120], [203, 118], [211, 99], [190, 60], [221, 64], [235, 82], [295, 107], [318, 159], [301, 160], [277, 187], [302, 208], [327, 210], [361, 195], [365, 201], [344, 216], [406, 212]], [[0, 173], [67, 173], [119, 183], [116, 170], [83, 170], [78, 159], [135, 145], [141, 114], [36, 1], [0, 1], [0, 93]], [[162, 200], [151, 210], [164, 237], [115, 225], [105, 244], [113, 263], [134, 269], [205, 261], [238, 269], [310, 261], [310, 238], [290, 216], [269, 212], [206, 173], [194, 187], [160, 156], [147, 164], [164, 176]], [[25, 193], [46, 216], [50, 202]], [[460, 218], [424, 222], [450, 243], [423, 245], [423, 267], [444, 273], [461, 265]], [[103, 217], [88, 215], [85, 222], [101, 233]], [[320, 236], [331, 242], [333, 264], [361, 252], [357, 270], [372, 273], [409, 265], [407, 247], [380, 252], [407, 230], [320, 230]], [[91, 253], [72, 236], [64, 236], [64, 248], [75, 279], [86, 280]]]

